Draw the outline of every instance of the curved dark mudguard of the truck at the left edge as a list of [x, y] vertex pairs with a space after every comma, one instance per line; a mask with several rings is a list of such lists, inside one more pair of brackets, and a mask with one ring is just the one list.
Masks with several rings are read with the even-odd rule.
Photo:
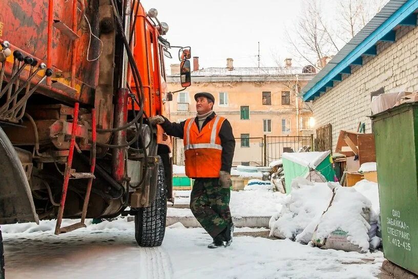
[[0, 128], [0, 224], [36, 222], [28, 178], [19, 157]]

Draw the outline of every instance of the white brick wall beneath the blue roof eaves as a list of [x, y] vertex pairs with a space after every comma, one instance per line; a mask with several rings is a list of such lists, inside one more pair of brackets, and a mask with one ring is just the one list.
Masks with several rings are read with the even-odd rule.
[[352, 74], [343, 74], [343, 81], [313, 101], [316, 126], [332, 125], [333, 149], [341, 130], [356, 131], [359, 122], [366, 123], [371, 133], [370, 93], [382, 87], [385, 93], [406, 87], [418, 90], [418, 27], [396, 30], [396, 42], [378, 43], [378, 55], [364, 57], [363, 66], [352, 67]]

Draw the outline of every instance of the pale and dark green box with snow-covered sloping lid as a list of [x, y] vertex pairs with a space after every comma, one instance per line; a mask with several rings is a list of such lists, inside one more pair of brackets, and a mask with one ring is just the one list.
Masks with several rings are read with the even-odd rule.
[[283, 153], [284, 181], [286, 194], [290, 193], [291, 182], [294, 178], [301, 176], [311, 181], [334, 181], [335, 171], [332, 167], [331, 151], [326, 152], [298, 152]]

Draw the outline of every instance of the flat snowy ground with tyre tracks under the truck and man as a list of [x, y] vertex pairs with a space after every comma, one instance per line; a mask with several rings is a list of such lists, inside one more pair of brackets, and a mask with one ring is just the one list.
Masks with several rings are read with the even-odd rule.
[[207, 249], [211, 237], [203, 229], [178, 224], [166, 229], [161, 247], [145, 248], [135, 242], [133, 222], [103, 223], [103, 230], [89, 225], [59, 236], [53, 228], [28, 232], [36, 224], [4, 233], [7, 278], [374, 278], [384, 260], [382, 252], [321, 250], [252, 236]]

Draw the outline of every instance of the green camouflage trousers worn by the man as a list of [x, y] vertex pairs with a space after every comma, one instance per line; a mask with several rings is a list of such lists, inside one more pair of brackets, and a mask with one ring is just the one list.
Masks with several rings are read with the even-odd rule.
[[190, 196], [190, 209], [200, 225], [215, 238], [232, 224], [229, 199], [231, 190], [219, 184], [219, 178], [197, 178]]

